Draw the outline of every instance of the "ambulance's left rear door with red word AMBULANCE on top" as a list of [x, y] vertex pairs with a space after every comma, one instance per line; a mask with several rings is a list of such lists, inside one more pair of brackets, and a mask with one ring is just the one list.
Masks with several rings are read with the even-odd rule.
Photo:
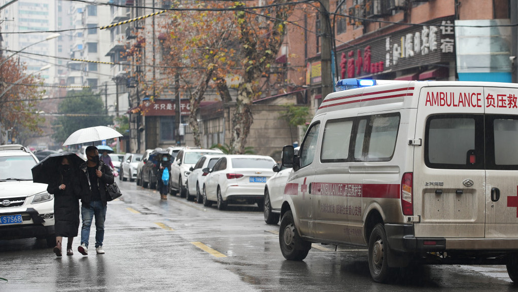
[[[416, 237], [483, 238], [484, 88], [422, 87], [416, 119]], [[419, 143], [418, 143], [419, 144]]]

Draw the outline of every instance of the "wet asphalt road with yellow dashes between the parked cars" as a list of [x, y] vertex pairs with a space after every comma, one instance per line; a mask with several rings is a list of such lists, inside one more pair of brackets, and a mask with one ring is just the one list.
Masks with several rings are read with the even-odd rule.
[[257, 208], [205, 208], [120, 182], [104, 249], [56, 258], [45, 241], [0, 240], [0, 291], [508, 291], [503, 266], [424, 266], [391, 285], [370, 279], [367, 252], [313, 245], [301, 262], [279, 250], [279, 226]]

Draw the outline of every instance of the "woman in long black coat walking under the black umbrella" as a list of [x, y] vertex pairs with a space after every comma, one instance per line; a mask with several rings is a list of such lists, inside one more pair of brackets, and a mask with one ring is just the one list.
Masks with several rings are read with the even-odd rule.
[[61, 256], [61, 243], [67, 237], [67, 255], [73, 255], [72, 242], [79, 230], [79, 196], [78, 166], [70, 164], [66, 156], [59, 165], [55, 180], [49, 184], [47, 191], [54, 195], [54, 229], [56, 246], [54, 253]]

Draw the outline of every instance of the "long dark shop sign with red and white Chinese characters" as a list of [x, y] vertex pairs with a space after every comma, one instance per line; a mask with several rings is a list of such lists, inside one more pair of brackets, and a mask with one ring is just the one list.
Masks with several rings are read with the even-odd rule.
[[341, 78], [455, 60], [453, 17], [415, 25], [338, 52]]

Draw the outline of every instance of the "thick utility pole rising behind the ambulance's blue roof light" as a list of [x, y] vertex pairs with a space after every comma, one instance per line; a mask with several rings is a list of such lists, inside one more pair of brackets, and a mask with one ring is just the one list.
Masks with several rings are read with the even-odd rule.
[[332, 66], [331, 66], [331, 47], [332, 47], [332, 39], [331, 39], [331, 22], [329, 20], [329, 0], [321, 0], [320, 1], [320, 33], [322, 40], [322, 51], [320, 53], [321, 58], [321, 66], [322, 66], [322, 98], [320, 100], [324, 100], [324, 98], [332, 93], [334, 90], [334, 80], [332, 74]]

